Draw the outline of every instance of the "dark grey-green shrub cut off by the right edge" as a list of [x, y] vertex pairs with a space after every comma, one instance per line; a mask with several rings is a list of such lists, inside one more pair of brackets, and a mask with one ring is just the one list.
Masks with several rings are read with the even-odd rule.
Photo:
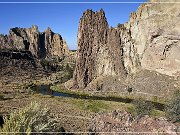
[[180, 122], [180, 90], [174, 92], [165, 107], [167, 118], [172, 122]]

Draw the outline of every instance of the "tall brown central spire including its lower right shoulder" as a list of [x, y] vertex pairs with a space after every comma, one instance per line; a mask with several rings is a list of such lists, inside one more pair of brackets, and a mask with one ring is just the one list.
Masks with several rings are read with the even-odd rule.
[[118, 44], [121, 42], [119, 36], [119, 31], [109, 30], [103, 10], [84, 12], [78, 29], [78, 51], [74, 72], [74, 85], [77, 88], [85, 88], [101, 75], [125, 76], [123, 48]]

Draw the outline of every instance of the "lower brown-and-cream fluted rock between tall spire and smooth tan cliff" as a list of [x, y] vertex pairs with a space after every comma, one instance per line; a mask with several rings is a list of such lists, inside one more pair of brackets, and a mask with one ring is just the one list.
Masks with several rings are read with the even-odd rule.
[[117, 27], [109, 30], [107, 45], [116, 75], [134, 73], [140, 67], [131, 31], [124, 25], [118, 24]]

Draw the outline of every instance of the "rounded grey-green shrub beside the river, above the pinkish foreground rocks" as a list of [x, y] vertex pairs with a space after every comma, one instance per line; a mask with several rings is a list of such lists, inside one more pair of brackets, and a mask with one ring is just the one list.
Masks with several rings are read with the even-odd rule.
[[150, 115], [154, 106], [152, 103], [139, 98], [133, 101], [135, 105], [135, 113], [137, 117], [143, 117], [144, 115]]

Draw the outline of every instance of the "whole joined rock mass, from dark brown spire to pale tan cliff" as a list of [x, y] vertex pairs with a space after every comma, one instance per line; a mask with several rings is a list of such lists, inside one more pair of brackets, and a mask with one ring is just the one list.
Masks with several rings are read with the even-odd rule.
[[76, 88], [100, 76], [123, 80], [139, 70], [179, 76], [180, 5], [150, 2], [156, 3], [142, 4], [127, 23], [114, 28], [109, 28], [103, 10], [84, 12], [78, 29]]

